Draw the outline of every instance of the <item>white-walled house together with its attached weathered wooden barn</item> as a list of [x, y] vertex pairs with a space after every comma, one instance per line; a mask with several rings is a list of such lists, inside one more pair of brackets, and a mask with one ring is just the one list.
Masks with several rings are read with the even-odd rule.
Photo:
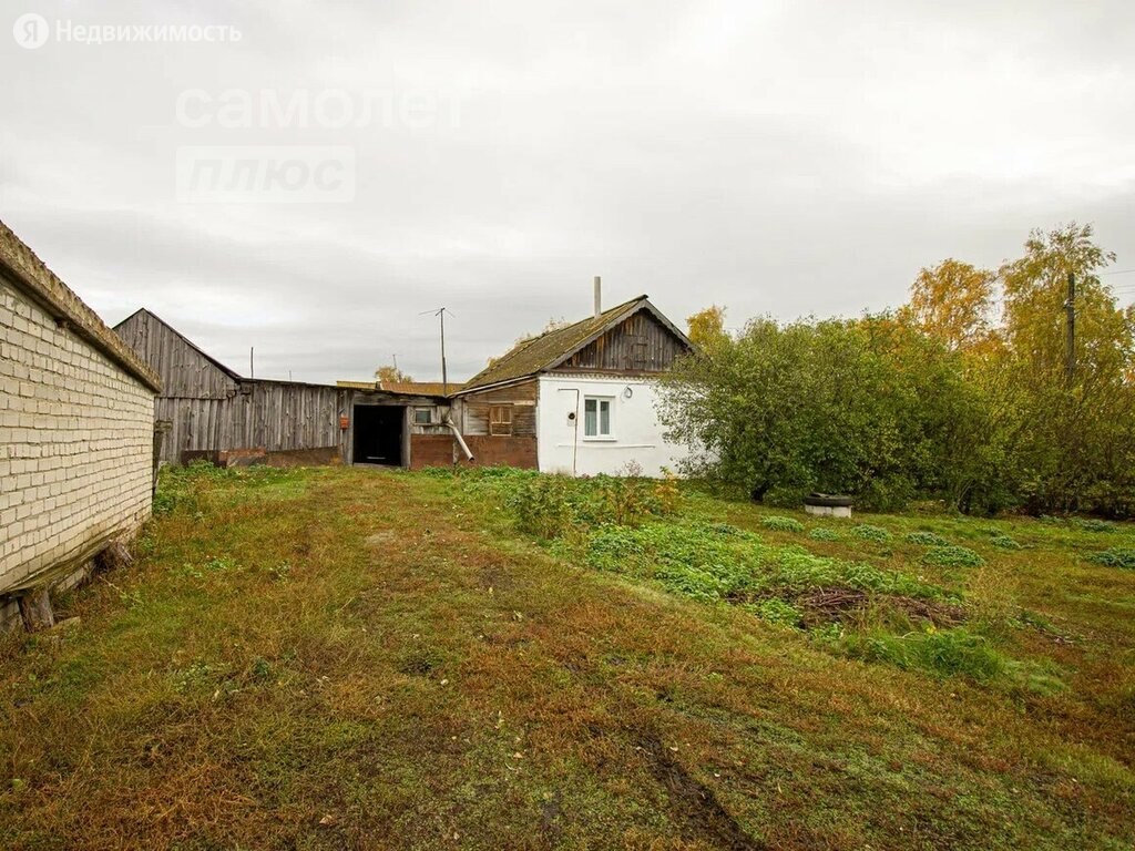
[[244, 378], [149, 310], [115, 330], [161, 377], [163, 463], [656, 475], [686, 454], [662, 438], [653, 379], [690, 342], [645, 295], [607, 311], [597, 298], [595, 315], [524, 340], [466, 384]]

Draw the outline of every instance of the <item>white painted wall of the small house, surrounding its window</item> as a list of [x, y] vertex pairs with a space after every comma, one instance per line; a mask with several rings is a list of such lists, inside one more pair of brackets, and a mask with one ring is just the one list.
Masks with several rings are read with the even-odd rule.
[[[583, 436], [583, 399], [588, 396], [612, 398], [609, 439]], [[624, 472], [628, 462], [633, 461], [645, 475], [661, 475], [663, 467], [676, 472], [678, 461], [689, 450], [663, 440], [655, 398], [649, 379], [540, 376], [536, 408], [540, 471], [613, 475]]]

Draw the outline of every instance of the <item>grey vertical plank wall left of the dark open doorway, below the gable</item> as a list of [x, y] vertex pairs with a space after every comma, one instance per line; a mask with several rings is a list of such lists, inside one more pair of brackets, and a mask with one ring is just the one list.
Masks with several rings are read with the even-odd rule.
[[159, 398], [157, 419], [171, 429], [161, 460], [180, 463], [186, 449], [268, 452], [339, 445], [346, 394], [335, 387], [286, 381], [244, 381], [228, 398]]

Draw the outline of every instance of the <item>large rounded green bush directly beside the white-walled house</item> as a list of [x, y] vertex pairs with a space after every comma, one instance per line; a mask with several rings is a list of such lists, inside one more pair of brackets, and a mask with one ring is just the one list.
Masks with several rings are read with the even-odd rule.
[[957, 356], [892, 314], [755, 320], [663, 380], [691, 470], [772, 503], [809, 490], [890, 508], [942, 481], [949, 424], [973, 411]]

